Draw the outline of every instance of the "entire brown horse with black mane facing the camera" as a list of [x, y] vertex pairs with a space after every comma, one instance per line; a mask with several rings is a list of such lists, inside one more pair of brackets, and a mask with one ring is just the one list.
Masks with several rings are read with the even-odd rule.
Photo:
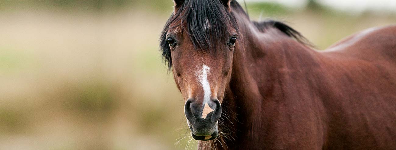
[[160, 46], [199, 149], [396, 150], [396, 26], [315, 51], [235, 0], [174, 3]]

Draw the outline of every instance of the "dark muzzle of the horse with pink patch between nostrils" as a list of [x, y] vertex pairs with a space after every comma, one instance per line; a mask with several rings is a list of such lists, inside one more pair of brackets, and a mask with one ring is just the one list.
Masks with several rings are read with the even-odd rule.
[[190, 98], [184, 108], [188, 127], [196, 140], [213, 140], [219, 134], [217, 122], [221, 117], [221, 104], [217, 99], [198, 102]]

